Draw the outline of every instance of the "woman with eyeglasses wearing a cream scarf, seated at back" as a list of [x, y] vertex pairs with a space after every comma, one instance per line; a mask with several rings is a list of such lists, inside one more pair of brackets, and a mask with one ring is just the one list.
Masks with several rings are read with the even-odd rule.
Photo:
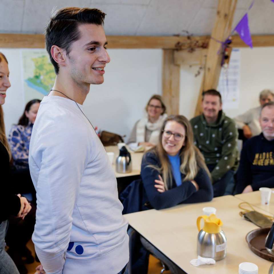
[[138, 120], [130, 134], [128, 144], [131, 149], [138, 146], [155, 146], [159, 139], [160, 128], [167, 117], [166, 106], [160, 95], [153, 95], [146, 105], [146, 115]]

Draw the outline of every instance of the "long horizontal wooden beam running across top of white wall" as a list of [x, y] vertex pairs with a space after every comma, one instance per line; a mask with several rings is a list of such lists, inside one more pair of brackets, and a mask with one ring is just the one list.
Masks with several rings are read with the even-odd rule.
[[[189, 49], [207, 48], [210, 36], [107, 36], [109, 49]], [[253, 35], [253, 47], [274, 47], [274, 35]], [[247, 47], [238, 35], [232, 47]], [[44, 48], [43, 34], [0, 33], [0, 48]]]

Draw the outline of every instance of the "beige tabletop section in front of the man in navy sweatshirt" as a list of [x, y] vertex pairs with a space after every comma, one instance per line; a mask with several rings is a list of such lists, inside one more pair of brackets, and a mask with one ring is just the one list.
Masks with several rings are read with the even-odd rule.
[[[274, 190], [274, 189], [272, 189]], [[258, 191], [253, 191], [249, 193], [244, 194], [237, 194], [235, 197], [239, 200], [242, 200], [243, 202], [248, 202], [253, 207], [256, 207], [256, 210], [259, 208], [263, 211], [266, 211], [268, 213], [274, 214], [274, 194], [271, 193], [270, 203], [269, 205], [261, 205], [261, 194]], [[261, 212], [263, 213], [263, 212]]]

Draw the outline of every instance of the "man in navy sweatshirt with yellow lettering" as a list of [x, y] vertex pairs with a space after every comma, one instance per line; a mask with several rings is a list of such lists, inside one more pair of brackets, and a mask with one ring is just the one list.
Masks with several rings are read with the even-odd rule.
[[262, 133], [247, 140], [241, 152], [237, 193], [274, 187], [274, 102], [263, 105], [259, 121]]

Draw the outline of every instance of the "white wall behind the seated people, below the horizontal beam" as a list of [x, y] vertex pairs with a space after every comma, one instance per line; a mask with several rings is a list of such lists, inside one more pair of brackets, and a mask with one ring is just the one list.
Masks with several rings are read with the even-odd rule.
[[[19, 49], [0, 49], [9, 61], [11, 88], [7, 92], [6, 130], [23, 113], [25, 99]], [[149, 97], [161, 94], [162, 51], [156, 49], [110, 49], [111, 62], [106, 67], [105, 82], [92, 85], [84, 110], [94, 126], [126, 134], [144, 111]], [[238, 109], [224, 109], [235, 117], [258, 105], [258, 94], [265, 88], [274, 89], [274, 47], [241, 48], [240, 98]], [[199, 66], [182, 66], [180, 70], [180, 114], [194, 116], [202, 73], [195, 77]]]

